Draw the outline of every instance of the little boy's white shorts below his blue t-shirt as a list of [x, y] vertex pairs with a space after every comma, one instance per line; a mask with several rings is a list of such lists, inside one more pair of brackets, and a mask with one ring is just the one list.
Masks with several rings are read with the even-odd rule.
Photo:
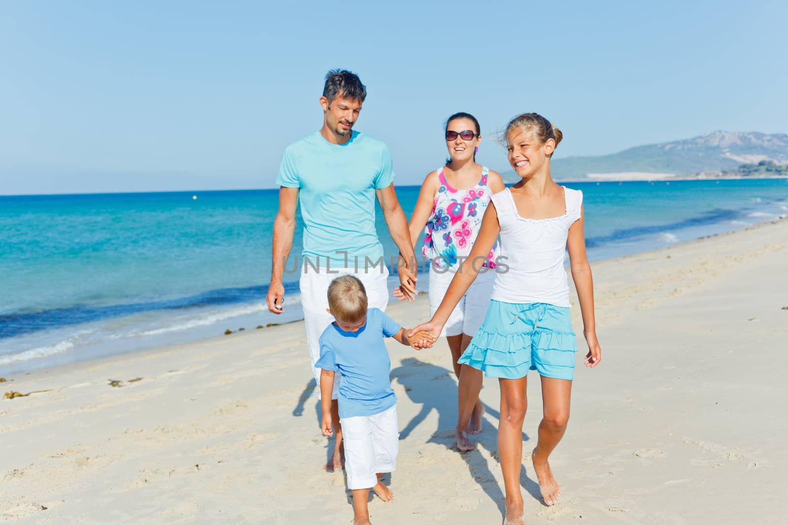
[[340, 423], [348, 489], [369, 489], [377, 485], [378, 472], [394, 471], [400, 450], [396, 405], [372, 416], [342, 418]]

